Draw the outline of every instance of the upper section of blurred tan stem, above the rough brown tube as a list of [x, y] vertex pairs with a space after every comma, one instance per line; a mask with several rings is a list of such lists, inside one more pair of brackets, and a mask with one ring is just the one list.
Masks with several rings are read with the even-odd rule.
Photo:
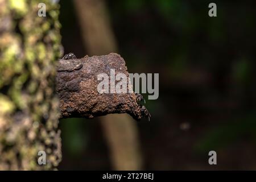
[[75, 7], [82, 38], [89, 55], [105, 55], [117, 52], [117, 43], [110, 26], [105, 1], [76, 0]]

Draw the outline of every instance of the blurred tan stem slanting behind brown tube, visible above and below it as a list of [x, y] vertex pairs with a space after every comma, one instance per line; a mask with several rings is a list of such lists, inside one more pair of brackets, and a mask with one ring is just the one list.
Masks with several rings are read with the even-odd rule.
[[[117, 52], [108, 9], [102, 0], [74, 1], [82, 38], [90, 55]], [[120, 97], [120, 96], [119, 96]], [[112, 165], [117, 170], [142, 168], [136, 123], [128, 115], [106, 115], [101, 118], [102, 129], [110, 149]]]

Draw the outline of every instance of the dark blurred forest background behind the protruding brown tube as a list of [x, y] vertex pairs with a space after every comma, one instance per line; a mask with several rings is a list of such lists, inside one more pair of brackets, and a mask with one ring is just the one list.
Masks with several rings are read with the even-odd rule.
[[[256, 169], [255, 1], [214, 1], [213, 18], [211, 1], [90, 1], [104, 6], [112, 47], [128, 71], [159, 73], [158, 100], [143, 95], [150, 122], [133, 121], [141, 169]], [[88, 23], [78, 15], [88, 7], [78, 2], [60, 1], [64, 51], [92, 56]], [[86, 36], [94, 31], [106, 33]], [[63, 119], [60, 128], [59, 169], [114, 169], [99, 118]], [[211, 150], [217, 165], [208, 164]]]

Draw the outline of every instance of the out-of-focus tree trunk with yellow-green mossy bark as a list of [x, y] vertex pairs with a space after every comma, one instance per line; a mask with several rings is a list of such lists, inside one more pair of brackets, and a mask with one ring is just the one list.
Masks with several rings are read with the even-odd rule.
[[[38, 16], [38, 4], [47, 16]], [[0, 0], [0, 169], [54, 169], [61, 160], [55, 60], [59, 5]], [[38, 164], [38, 152], [47, 164]]]

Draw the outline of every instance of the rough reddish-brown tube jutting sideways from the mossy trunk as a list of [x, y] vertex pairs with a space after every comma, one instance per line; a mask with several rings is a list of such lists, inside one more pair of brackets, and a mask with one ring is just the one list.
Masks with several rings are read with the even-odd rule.
[[[115, 69], [115, 75], [124, 73], [128, 77], [125, 60], [117, 53], [85, 56], [82, 59], [61, 59], [56, 77], [61, 118], [93, 118], [112, 113], [128, 113], [134, 119], [141, 119], [146, 113], [138, 103], [137, 94], [98, 93], [97, 86], [101, 80], [97, 80], [97, 75], [106, 73], [110, 77], [110, 69]], [[127, 90], [129, 87], [132, 88], [127, 82]]]

